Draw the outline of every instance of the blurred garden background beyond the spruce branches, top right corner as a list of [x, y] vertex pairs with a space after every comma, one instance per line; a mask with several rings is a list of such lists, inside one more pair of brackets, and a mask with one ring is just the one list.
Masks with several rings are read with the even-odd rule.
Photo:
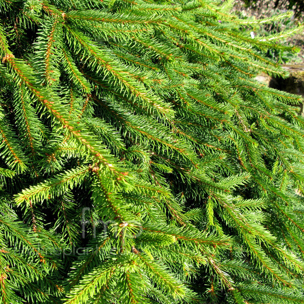
[[[248, 21], [272, 18], [270, 23], [257, 24], [254, 32], [243, 30], [252, 38], [261, 39], [264, 36], [276, 35], [277, 43], [298, 47], [299, 52], [287, 52], [282, 50], [269, 50], [267, 57], [281, 64], [286, 70], [285, 78], [273, 78], [270, 75], [257, 75], [256, 80], [275, 89], [298, 94], [303, 97], [303, 103], [299, 104], [299, 114], [304, 116], [304, 0], [235, 0], [234, 13], [241, 19]], [[277, 19], [282, 13], [290, 13], [285, 19]], [[302, 26], [300, 24], [303, 24]], [[281, 37], [280, 32], [283, 33]]]

